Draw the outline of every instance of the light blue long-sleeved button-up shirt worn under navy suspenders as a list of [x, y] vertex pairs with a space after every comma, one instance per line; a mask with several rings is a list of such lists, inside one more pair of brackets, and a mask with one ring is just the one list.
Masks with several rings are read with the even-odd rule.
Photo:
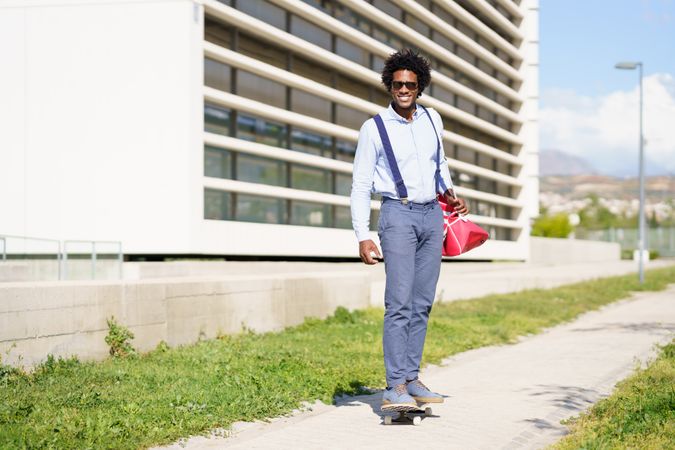
[[[431, 108], [427, 108], [436, 125], [438, 138], [441, 142], [441, 177], [446, 188], [452, 188], [452, 179], [448, 170], [448, 163], [443, 152], [443, 122], [441, 116]], [[398, 115], [389, 105], [381, 113], [382, 121], [387, 129], [391, 146], [394, 149], [396, 163], [401, 177], [408, 189], [408, 200], [416, 203], [426, 203], [436, 198], [436, 147], [437, 140], [429, 118], [424, 109], [417, 107], [412, 121]], [[439, 186], [439, 190], [443, 188]], [[396, 198], [394, 177], [387, 162], [387, 156], [382, 146], [382, 140], [377, 131], [375, 121], [366, 120], [359, 131], [359, 143], [354, 157], [354, 178], [352, 181], [351, 211], [352, 224], [356, 237], [361, 241], [370, 239], [368, 225], [370, 222], [370, 195], [382, 194], [385, 197]]]

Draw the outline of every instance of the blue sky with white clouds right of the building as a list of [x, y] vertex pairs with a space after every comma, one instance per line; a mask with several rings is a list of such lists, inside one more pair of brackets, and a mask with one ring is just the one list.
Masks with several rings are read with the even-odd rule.
[[540, 149], [637, 176], [644, 65], [648, 175], [675, 175], [675, 0], [539, 1]]

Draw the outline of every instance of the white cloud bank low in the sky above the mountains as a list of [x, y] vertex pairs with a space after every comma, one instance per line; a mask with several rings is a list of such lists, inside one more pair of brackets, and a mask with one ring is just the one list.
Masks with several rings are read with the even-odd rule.
[[[539, 112], [542, 149], [557, 149], [590, 161], [613, 175], [638, 171], [638, 87], [602, 97], [548, 89]], [[675, 174], [675, 77], [644, 78], [644, 136], [648, 174]]]

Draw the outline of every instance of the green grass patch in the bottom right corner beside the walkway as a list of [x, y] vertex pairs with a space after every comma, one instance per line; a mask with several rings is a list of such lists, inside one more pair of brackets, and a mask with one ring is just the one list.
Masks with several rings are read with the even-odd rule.
[[570, 426], [555, 449], [675, 448], [675, 341]]

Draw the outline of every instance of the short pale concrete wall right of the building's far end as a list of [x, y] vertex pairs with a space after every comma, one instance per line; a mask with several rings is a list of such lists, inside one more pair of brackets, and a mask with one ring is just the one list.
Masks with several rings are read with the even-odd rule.
[[621, 246], [615, 242], [540, 237], [531, 237], [530, 242], [530, 262], [535, 264], [566, 264], [621, 259]]

